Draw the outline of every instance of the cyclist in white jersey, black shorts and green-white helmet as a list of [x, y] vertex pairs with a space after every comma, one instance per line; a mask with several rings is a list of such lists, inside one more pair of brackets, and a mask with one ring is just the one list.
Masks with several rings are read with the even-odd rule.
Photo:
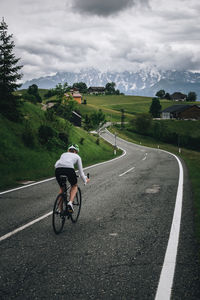
[[[63, 192], [61, 179], [60, 179], [61, 175], [66, 175], [69, 180], [69, 183], [71, 184], [70, 198], [68, 202], [68, 210], [71, 213], [73, 212], [73, 201], [78, 189], [77, 177], [74, 170], [74, 165], [78, 166], [79, 173], [83, 182], [85, 184], [89, 182], [89, 179], [87, 178], [87, 176], [85, 176], [83, 172], [82, 160], [81, 157], [78, 155], [78, 152], [79, 152], [79, 146], [77, 144], [71, 144], [68, 147], [68, 152], [63, 153], [60, 159], [57, 160], [57, 162], [55, 163], [55, 176], [60, 186], [60, 193]], [[62, 210], [61, 207], [60, 209]]]

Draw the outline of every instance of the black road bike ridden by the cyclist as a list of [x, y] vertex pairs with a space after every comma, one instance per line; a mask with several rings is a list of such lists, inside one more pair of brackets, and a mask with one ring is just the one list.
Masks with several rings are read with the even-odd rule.
[[[79, 176], [77, 176], [79, 177]], [[89, 174], [87, 174], [89, 178]], [[53, 230], [56, 234], [59, 234], [64, 227], [65, 220], [70, 219], [72, 223], [76, 223], [81, 211], [81, 189], [78, 187], [77, 193], [74, 197], [73, 201], [73, 213], [69, 212], [68, 210], [68, 202], [69, 202], [69, 191], [70, 191], [70, 184], [68, 183], [68, 179], [66, 175], [61, 175], [61, 185], [63, 187], [63, 192], [60, 193], [54, 203], [53, 207], [53, 214], [52, 214], [52, 225]]]

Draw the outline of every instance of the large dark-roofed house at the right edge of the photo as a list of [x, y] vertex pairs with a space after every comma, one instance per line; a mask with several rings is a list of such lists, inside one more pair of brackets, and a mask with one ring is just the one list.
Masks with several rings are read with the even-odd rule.
[[172, 105], [161, 112], [162, 119], [200, 120], [198, 105]]

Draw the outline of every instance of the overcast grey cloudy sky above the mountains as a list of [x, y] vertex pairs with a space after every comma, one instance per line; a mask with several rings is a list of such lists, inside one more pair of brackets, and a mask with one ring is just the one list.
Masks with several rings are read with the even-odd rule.
[[199, 0], [1, 0], [23, 81], [58, 71], [200, 71]]

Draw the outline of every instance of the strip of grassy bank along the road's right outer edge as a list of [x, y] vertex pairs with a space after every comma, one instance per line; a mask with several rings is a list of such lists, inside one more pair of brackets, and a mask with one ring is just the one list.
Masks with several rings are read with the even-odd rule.
[[[127, 131], [126, 129], [120, 130], [117, 127], [110, 128], [112, 133], [117, 133], [117, 135], [130, 142], [141, 144], [143, 146], [160, 148], [184, 159], [189, 172], [189, 178], [192, 185], [193, 198], [194, 198], [194, 216], [195, 216], [195, 233], [198, 242], [200, 243], [200, 152], [192, 151], [187, 149], [179, 149], [176, 146], [158, 142], [157, 140], [146, 137], [143, 135], [136, 134], [134, 132]], [[199, 253], [200, 254], [200, 253]]]

